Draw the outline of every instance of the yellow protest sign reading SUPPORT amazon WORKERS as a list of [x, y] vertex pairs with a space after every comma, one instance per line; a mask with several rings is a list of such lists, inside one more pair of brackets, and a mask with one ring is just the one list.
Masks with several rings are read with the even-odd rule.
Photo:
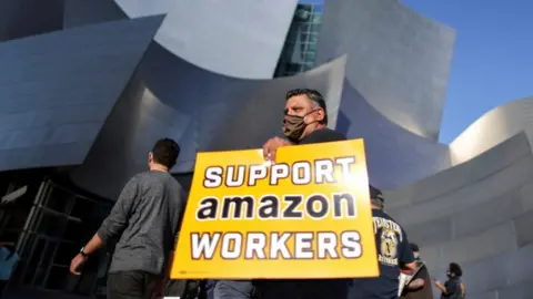
[[362, 140], [200, 153], [171, 278], [379, 275]]

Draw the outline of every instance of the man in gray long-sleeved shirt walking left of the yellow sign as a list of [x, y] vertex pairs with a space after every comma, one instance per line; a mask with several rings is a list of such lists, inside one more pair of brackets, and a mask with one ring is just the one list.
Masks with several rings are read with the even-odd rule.
[[169, 138], [148, 154], [149, 172], [133, 176], [122, 189], [108, 218], [72, 259], [70, 271], [110, 240], [117, 240], [108, 275], [109, 299], [149, 299], [169, 268], [185, 194], [169, 174], [180, 153]]

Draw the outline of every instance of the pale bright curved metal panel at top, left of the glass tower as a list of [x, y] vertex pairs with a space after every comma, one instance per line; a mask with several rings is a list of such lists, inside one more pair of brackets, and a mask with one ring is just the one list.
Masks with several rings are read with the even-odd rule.
[[202, 69], [241, 79], [273, 76], [298, 2], [115, 1], [130, 18], [167, 13], [157, 42]]

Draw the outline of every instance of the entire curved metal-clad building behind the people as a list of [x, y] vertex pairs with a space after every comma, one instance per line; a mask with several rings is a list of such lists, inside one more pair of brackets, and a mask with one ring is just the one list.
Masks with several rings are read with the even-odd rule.
[[[33, 12], [0, 0], [0, 195], [30, 186], [28, 177], [43, 182], [21, 199], [31, 209], [18, 240], [23, 287], [67, 283], [49, 281], [64, 268], [53, 268], [54, 254], [32, 264], [32, 252], [79, 249], [68, 228], [84, 221], [80, 210], [98, 213], [64, 204], [72, 197], [109, 205], [167, 136], [182, 147], [172, 172], [187, 183], [197, 152], [261, 146], [280, 134], [286, 90], [313, 87], [328, 100], [331, 127], [365, 140], [370, 179], [386, 189], [388, 210], [433, 276], [457, 261], [469, 298], [531, 297], [533, 99], [440, 144], [453, 29], [396, 0], [326, 1], [321, 65], [272, 79], [295, 0], [53, 3], [29, 20]], [[42, 228], [50, 210], [64, 214], [48, 220], [62, 228]], [[7, 214], [0, 205], [0, 229]]]

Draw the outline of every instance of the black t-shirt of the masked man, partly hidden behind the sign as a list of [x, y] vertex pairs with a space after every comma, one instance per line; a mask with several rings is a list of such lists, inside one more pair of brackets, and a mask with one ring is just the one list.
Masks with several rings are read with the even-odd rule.
[[[345, 141], [346, 137], [328, 127], [313, 131], [298, 145]], [[282, 270], [282, 269], [280, 269]], [[345, 299], [349, 281], [345, 279], [268, 280], [258, 283], [261, 299]]]

